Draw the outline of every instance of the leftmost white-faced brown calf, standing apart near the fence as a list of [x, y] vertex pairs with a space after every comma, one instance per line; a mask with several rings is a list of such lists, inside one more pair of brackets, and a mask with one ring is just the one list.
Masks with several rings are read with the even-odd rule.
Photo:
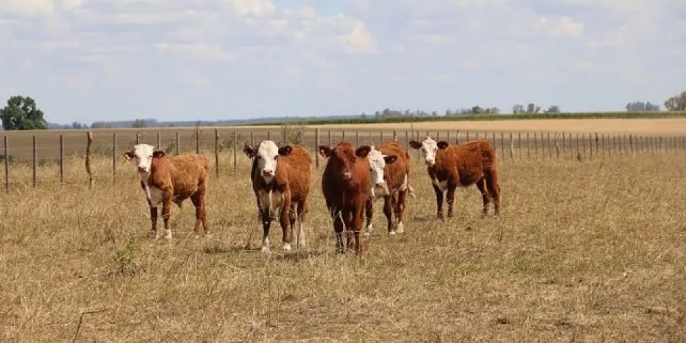
[[211, 235], [205, 211], [209, 169], [207, 158], [198, 154], [167, 157], [165, 152], [154, 150], [152, 145], [147, 144], [134, 145], [133, 150], [124, 152], [124, 157], [133, 163], [141, 178], [141, 188], [150, 206], [151, 230], [154, 237], [161, 236], [157, 231], [158, 207], [162, 206], [162, 219], [165, 224], [163, 237], [171, 239], [171, 202], [180, 207], [187, 198], [191, 198], [193, 206], [196, 207], [196, 226], [193, 228], [196, 237], [200, 233], [201, 223], [205, 234]]

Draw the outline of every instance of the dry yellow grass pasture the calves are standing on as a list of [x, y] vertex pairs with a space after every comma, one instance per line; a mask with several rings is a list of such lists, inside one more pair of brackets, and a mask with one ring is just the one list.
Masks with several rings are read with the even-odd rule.
[[[128, 165], [116, 185], [43, 182], [1, 196], [0, 340], [686, 340], [683, 156], [506, 163], [502, 217], [481, 219], [472, 187], [458, 190], [449, 222], [435, 219], [414, 165], [406, 233], [386, 235], [377, 204], [362, 258], [335, 255], [321, 170], [307, 250], [255, 250], [241, 161], [238, 176], [211, 180], [212, 239], [192, 238], [189, 202], [172, 210], [173, 241], [146, 238]], [[67, 169], [73, 180], [82, 161]]]

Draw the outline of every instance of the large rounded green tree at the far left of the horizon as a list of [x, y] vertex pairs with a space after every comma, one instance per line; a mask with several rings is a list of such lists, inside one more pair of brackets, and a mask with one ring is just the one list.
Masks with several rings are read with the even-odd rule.
[[10, 97], [7, 106], [0, 110], [2, 126], [5, 130], [45, 130], [47, 122], [43, 111], [36, 107], [30, 97], [16, 95]]

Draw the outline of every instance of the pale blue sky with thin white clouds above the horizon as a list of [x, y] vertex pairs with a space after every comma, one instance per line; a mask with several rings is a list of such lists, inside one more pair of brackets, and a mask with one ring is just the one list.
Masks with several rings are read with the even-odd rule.
[[2, 0], [0, 101], [56, 123], [662, 104], [683, 0]]

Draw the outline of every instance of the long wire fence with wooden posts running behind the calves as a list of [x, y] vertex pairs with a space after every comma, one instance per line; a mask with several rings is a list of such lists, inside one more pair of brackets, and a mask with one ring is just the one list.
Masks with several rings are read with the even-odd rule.
[[[92, 138], [88, 144], [88, 135]], [[349, 141], [355, 145], [374, 145], [397, 140], [410, 150], [409, 142], [422, 141], [430, 136], [436, 141], [462, 143], [475, 139], [487, 139], [495, 146], [497, 158], [502, 162], [517, 163], [523, 160], [553, 160], [572, 158], [578, 161], [618, 156], [641, 156], [646, 154], [676, 154], [686, 151], [686, 137], [648, 136], [638, 134], [570, 133], [570, 132], [486, 132], [464, 130], [320, 130], [304, 127], [196, 130], [120, 130], [115, 132], [71, 131], [66, 133], [37, 132], [35, 134], [5, 134], [3, 155], [5, 189], [12, 188], [12, 175], [30, 173], [31, 185], [38, 185], [40, 174], [49, 174], [54, 181], [65, 182], [64, 164], [67, 160], [97, 156], [111, 158], [109, 175], [100, 179], [117, 178], [117, 166], [123, 161], [123, 152], [133, 145], [147, 143], [167, 154], [196, 152], [213, 155], [211, 163], [215, 176], [224, 173], [237, 174], [239, 159], [244, 145], [256, 145], [263, 140], [279, 144], [303, 145], [313, 155], [315, 165], [320, 167], [319, 145], [334, 145]], [[418, 151], [416, 152], [418, 156]], [[13, 174], [14, 171], [14, 174]], [[82, 176], [69, 176], [79, 178]], [[46, 178], [40, 178], [45, 181]], [[91, 181], [92, 182], [92, 181]]]

